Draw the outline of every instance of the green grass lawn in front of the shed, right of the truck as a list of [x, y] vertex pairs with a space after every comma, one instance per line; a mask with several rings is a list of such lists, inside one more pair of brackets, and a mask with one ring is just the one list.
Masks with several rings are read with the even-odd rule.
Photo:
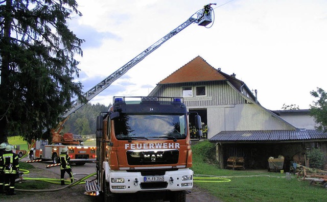
[[207, 164], [202, 149], [207, 144], [211, 143], [192, 145], [194, 174], [226, 176], [230, 182], [207, 183], [195, 179], [194, 184], [221, 201], [327, 201], [326, 189], [310, 185], [309, 181], [299, 182], [294, 175], [288, 180], [285, 174], [276, 172], [227, 170]]

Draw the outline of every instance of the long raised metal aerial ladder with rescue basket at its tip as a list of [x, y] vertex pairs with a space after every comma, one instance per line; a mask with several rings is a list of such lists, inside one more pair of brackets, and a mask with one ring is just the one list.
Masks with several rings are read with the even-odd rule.
[[[199, 26], [207, 26], [211, 22], [213, 22], [214, 18], [214, 9], [211, 5], [216, 4], [208, 4], [203, 7], [203, 9], [194, 13], [189, 19], [185, 22], [180, 24], [177, 28], [172, 30], [170, 33], [159, 39], [157, 42], [146, 48], [141, 54], [138, 54], [135, 58], [127, 62], [121, 68], [110, 74], [107, 78], [103, 81], [92, 87], [90, 90], [86, 91], [83, 96], [86, 98], [87, 102], [98, 95], [100, 92], [105, 90], [108, 86], [110, 86], [114, 81], [118, 80], [122, 75], [124, 75], [129, 69], [135, 66], [137, 63], [141, 62], [145, 57], [150, 55], [155, 49], [160, 47], [163, 43], [171, 39], [173, 36], [178, 34], [180, 31], [188, 27], [192, 23], [197, 23]], [[75, 99], [72, 102], [72, 107], [66, 110], [61, 117], [66, 118], [67, 116], [71, 115], [78, 109], [80, 109], [84, 104], [79, 100]]]

